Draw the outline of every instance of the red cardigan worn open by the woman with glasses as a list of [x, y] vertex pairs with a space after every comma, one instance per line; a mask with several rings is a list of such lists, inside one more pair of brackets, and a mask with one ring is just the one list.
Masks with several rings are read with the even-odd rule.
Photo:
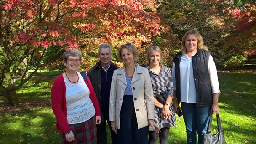
[[[96, 93], [94, 92], [93, 87], [91, 85], [91, 81], [88, 77], [87, 80], [88, 83], [85, 82], [85, 80], [84, 82], [87, 84], [87, 87], [89, 88], [90, 99], [95, 109], [95, 115], [101, 116], [101, 111], [96, 97]], [[69, 123], [67, 120], [66, 85], [62, 74], [59, 77], [57, 77], [53, 83], [51, 89], [51, 100], [53, 113], [55, 114], [55, 117], [57, 119], [55, 129], [60, 130], [61, 134], [65, 134], [69, 132], [71, 129], [69, 127]]]

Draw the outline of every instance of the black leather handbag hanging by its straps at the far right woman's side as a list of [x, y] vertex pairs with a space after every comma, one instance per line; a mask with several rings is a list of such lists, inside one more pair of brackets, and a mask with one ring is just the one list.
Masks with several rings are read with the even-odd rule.
[[212, 120], [213, 120], [213, 114], [211, 114], [207, 131], [203, 134], [203, 144], [227, 144], [224, 138], [223, 129], [221, 128], [219, 114], [216, 115], [216, 118], [217, 118], [218, 132], [216, 134], [211, 133]]

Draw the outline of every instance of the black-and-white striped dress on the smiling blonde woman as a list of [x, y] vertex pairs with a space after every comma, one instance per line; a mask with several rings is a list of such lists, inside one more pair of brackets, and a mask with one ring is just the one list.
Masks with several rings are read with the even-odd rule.
[[[159, 95], [162, 90], [165, 90], [168, 96], [173, 96], [171, 70], [168, 67], [161, 65], [161, 71], [159, 74], [157, 74], [155, 72], [152, 72], [148, 66], [146, 66], [146, 68], [148, 69], [150, 74], [154, 96]], [[160, 129], [176, 125], [176, 118], [172, 103], [170, 105], [170, 111], [172, 113], [171, 118], [165, 120], [161, 117], [162, 108], [155, 107], [154, 122], [158, 125]], [[149, 131], [153, 131], [150, 124]]]

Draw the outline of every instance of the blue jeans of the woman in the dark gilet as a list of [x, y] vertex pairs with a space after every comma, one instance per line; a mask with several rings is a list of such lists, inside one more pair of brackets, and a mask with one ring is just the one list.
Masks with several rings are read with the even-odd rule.
[[187, 144], [197, 144], [197, 134], [198, 144], [203, 144], [203, 134], [207, 130], [211, 107], [211, 105], [197, 106], [197, 103], [181, 102], [183, 118], [186, 125]]

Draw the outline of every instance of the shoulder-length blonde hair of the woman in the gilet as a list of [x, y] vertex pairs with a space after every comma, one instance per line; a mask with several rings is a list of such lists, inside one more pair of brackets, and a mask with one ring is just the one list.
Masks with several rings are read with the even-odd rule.
[[198, 43], [197, 43], [197, 48], [198, 49], [203, 49], [203, 50], [208, 51], [208, 47], [203, 45], [203, 37], [200, 35], [200, 33], [197, 30], [192, 29], [192, 30], [188, 30], [186, 32], [186, 34], [182, 37], [181, 52], [183, 54], [186, 53], [186, 51], [187, 51], [187, 48], [185, 46], [185, 41], [186, 41], [186, 38], [187, 38], [188, 35], [195, 35], [196, 36], [196, 38], [198, 40]]

